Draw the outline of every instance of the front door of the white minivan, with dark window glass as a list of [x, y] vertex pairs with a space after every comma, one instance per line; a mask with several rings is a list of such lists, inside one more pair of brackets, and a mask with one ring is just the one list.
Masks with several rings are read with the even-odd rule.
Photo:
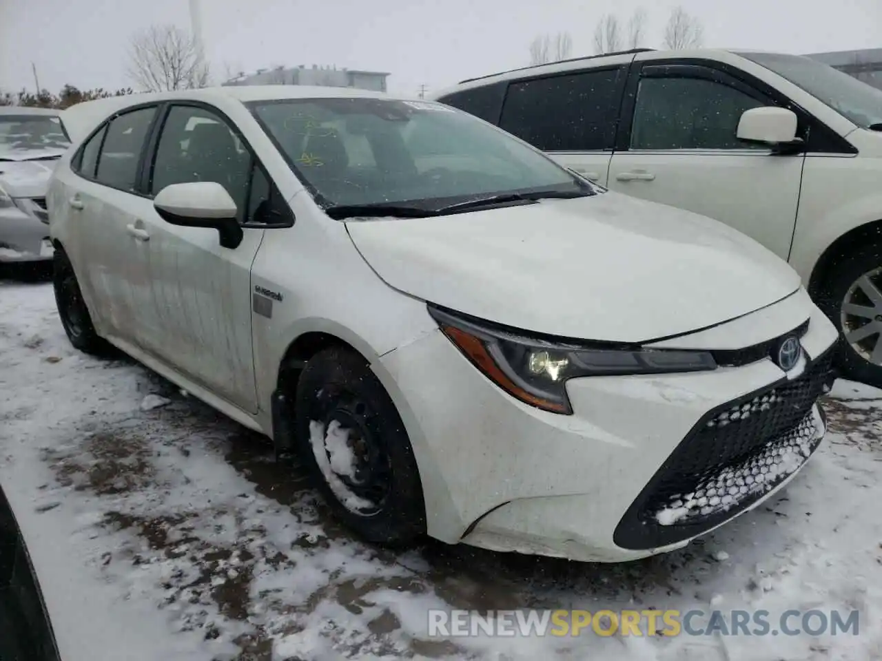
[[736, 137], [742, 113], [773, 100], [704, 64], [663, 60], [635, 62], [629, 86], [609, 188], [721, 220], [787, 259], [804, 155]]

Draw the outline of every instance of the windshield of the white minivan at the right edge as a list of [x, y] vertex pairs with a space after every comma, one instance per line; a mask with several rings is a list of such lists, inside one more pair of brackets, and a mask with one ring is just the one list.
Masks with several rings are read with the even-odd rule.
[[882, 91], [810, 57], [739, 53], [787, 78], [863, 129], [882, 123]]

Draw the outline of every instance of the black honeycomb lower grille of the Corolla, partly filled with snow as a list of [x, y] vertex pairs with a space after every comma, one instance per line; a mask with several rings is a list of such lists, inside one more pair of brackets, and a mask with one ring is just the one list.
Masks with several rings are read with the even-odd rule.
[[[625, 513], [613, 536], [617, 546], [647, 549], [694, 537], [786, 479], [793, 471], [784, 469], [795, 470], [820, 442], [812, 405], [824, 393], [832, 358], [828, 351], [799, 378], [707, 413]], [[671, 511], [667, 522], [659, 516]]]

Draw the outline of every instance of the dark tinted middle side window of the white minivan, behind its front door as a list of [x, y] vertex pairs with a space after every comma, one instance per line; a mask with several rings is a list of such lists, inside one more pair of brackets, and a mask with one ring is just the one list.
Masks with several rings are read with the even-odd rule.
[[499, 126], [546, 152], [612, 147], [624, 68], [512, 83]]

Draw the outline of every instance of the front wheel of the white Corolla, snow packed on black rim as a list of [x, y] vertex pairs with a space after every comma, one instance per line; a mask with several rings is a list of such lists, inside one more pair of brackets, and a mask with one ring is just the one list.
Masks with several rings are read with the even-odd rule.
[[[329, 452], [328, 439], [339, 447], [344, 429], [349, 450]], [[297, 382], [295, 438], [310, 478], [349, 528], [383, 546], [422, 537], [425, 505], [413, 448], [392, 399], [360, 355], [332, 347], [306, 363]]]

